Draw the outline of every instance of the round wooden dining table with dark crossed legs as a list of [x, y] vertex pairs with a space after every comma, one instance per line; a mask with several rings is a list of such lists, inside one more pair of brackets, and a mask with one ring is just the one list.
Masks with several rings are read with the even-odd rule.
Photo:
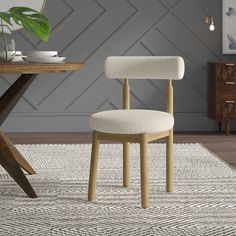
[[[63, 63], [63, 64], [30, 64], [30, 63], [4, 63], [0, 64], [0, 74], [21, 74], [20, 77], [7, 89], [0, 97], [0, 125], [8, 117], [24, 92], [39, 73], [45, 72], [67, 72], [80, 70], [82, 63]], [[25, 177], [22, 169], [29, 174], [36, 174], [30, 164], [15, 148], [14, 144], [7, 135], [0, 130], [0, 164], [16, 183], [31, 198], [37, 195]], [[22, 168], [22, 169], [21, 169]]]

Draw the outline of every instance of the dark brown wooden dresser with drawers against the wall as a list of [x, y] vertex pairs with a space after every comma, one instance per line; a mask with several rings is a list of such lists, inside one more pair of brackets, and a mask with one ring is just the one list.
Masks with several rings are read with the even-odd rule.
[[208, 62], [208, 116], [225, 124], [229, 134], [229, 122], [236, 120], [236, 62]]

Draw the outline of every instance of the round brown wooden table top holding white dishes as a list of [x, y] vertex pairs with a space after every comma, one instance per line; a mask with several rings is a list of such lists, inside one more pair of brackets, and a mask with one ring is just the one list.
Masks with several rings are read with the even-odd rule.
[[0, 63], [0, 74], [38, 74], [42, 72], [66, 72], [76, 71], [84, 67], [81, 62], [66, 63]]

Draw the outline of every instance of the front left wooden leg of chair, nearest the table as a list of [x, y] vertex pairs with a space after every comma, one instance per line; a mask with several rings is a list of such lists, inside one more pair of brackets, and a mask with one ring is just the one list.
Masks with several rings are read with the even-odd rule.
[[97, 137], [97, 132], [94, 131], [91, 163], [90, 163], [88, 201], [93, 201], [96, 198], [96, 177], [98, 168], [98, 156], [99, 156], [99, 140]]

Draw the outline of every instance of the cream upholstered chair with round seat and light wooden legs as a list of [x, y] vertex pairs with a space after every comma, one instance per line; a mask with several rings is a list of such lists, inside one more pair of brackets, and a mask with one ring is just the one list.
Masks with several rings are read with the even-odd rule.
[[[184, 76], [184, 61], [181, 57], [164, 56], [118, 56], [108, 57], [105, 73], [111, 79], [124, 79], [123, 108], [95, 113], [90, 118], [93, 129], [92, 156], [89, 176], [88, 200], [96, 197], [96, 176], [100, 140], [123, 143], [123, 186], [129, 186], [129, 143], [140, 143], [141, 204], [149, 207], [148, 190], [148, 142], [167, 137], [166, 145], [166, 190], [173, 190], [173, 87], [172, 80]], [[167, 111], [132, 110], [128, 79], [168, 80]]]

